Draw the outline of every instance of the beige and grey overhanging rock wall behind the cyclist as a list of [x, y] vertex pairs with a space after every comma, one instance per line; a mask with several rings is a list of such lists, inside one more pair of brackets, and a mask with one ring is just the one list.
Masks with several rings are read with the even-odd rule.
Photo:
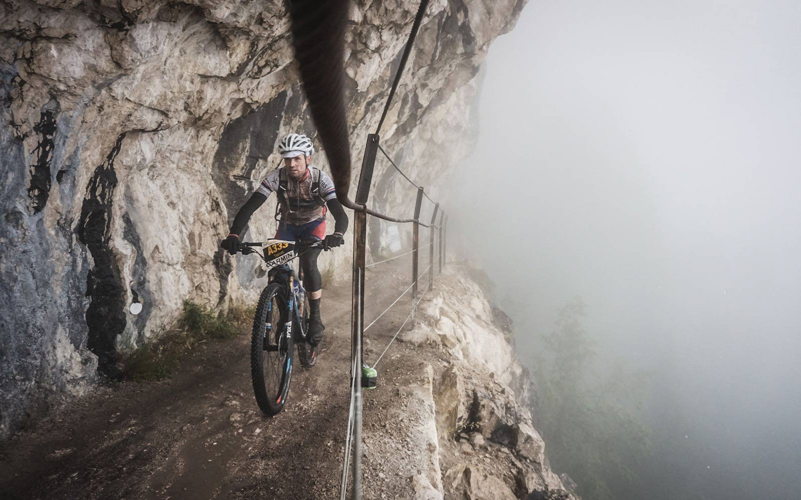
[[[524, 0], [429, 6], [382, 142], [440, 194], [469, 151], [475, 77]], [[352, 6], [346, 66], [354, 158], [376, 125], [417, 2]], [[282, 2], [0, 2], [0, 435], [53, 394], [115, 373], [184, 299], [227, 306], [264, 284], [219, 239], [278, 165], [282, 134], [314, 127]], [[454, 154], [455, 153], [455, 154]], [[314, 158], [326, 168], [323, 154]], [[387, 162], [372, 203], [409, 214]], [[272, 206], [250, 225], [272, 234]], [[371, 226], [372, 241], [387, 229]], [[380, 245], [374, 250], [380, 251]], [[338, 252], [322, 266], [348, 261]], [[127, 312], [142, 302], [137, 316]]]

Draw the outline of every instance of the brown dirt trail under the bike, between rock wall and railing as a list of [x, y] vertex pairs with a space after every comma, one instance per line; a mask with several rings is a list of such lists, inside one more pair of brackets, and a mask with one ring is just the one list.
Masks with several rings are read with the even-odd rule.
[[[403, 258], [370, 273], [368, 322], [408, 286], [408, 269]], [[278, 416], [265, 417], [253, 398], [249, 334], [207, 343], [182, 359], [173, 378], [101, 387], [2, 443], [0, 498], [338, 498], [348, 418], [349, 280], [324, 294], [323, 352], [312, 370], [296, 369]], [[370, 331], [368, 361], [408, 314], [402, 302]], [[400, 373], [404, 359], [419, 368], [409, 349], [396, 343], [384, 368]], [[384, 419], [379, 413], [372, 410], [365, 433], [380, 430], [370, 423]], [[382, 486], [376, 496], [387, 498], [392, 489]], [[390, 496], [409, 498], [400, 494]]]

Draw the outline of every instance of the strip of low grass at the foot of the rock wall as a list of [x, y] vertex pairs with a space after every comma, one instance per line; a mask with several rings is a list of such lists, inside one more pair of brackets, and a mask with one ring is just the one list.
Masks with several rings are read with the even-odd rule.
[[123, 379], [155, 381], [168, 378], [179, 367], [180, 358], [209, 340], [235, 338], [250, 330], [256, 307], [233, 307], [216, 313], [211, 307], [183, 302], [183, 312], [152, 342], [145, 342], [120, 356]]

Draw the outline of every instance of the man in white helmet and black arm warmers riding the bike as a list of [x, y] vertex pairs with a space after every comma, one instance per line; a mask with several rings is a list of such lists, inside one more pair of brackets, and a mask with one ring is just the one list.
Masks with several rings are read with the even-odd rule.
[[[288, 134], [278, 145], [278, 152], [284, 158], [284, 166], [270, 172], [250, 199], [236, 213], [231, 234], [220, 246], [231, 255], [239, 246], [239, 236], [243, 234], [251, 215], [272, 194], [276, 192], [281, 214], [277, 239], [299, 241], [314, 239], [323, 242], [324, 250], [344, 243], [348, 230], [348, 215], [336, 199], [334, 183], [328, 174], [311, 166], [314, 146], [304, 134]], [[334, 216], [334, 232], [325, 235], [325, 213], [331, 210]], [[309, 341], [316, 346], [323, 338], [325, 326], [320, 319], [320, 298], [322, 297], [322, 278], [317, 269], [320, 249], [308, 250], [300, 256], [300, 266], [304, 272], [304, 288], [308, 296]]]

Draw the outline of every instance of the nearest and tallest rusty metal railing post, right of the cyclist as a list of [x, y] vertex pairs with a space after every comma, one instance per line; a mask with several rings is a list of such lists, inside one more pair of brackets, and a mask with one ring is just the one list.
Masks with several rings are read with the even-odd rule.
[[[364, 147], [364, 158], [361, 162], [359, 187], [356, 190], [356, 203], [364, 204], [370, 194], [372, 170], [376, 164], [379, 136], [369, 134], [367, 146]], [[351, 354], [356, 359], [353, 363], [355, 374], [351, 374], [354, 382], [354, 422], [353, 422], [353, 489], [351, 498], [361, 500], [361, 366], [364, 354], [364, 260], [367, 246], [367, 214], [356, 210], [353, 213], [353, 303], [351, 308], [352, 336]]]

